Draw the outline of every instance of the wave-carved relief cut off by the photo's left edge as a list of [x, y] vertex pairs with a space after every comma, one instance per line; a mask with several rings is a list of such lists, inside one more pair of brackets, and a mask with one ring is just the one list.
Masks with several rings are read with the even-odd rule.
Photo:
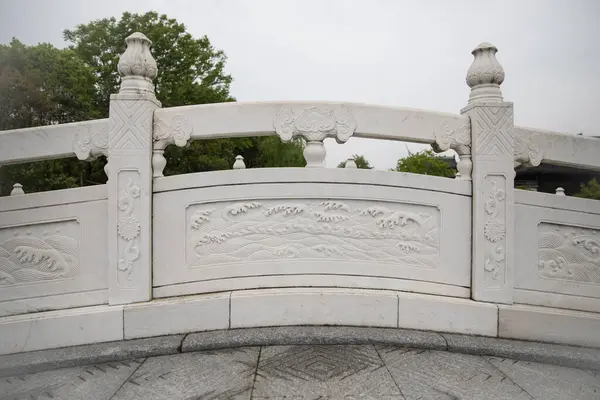
[[74, 219], [0, 229], [0, 287], [80, 275], [80, 236]]

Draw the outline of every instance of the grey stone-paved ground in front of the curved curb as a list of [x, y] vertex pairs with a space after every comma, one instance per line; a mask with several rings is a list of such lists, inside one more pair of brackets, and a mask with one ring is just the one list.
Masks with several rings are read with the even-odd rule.
[[180, 353], [0, 378], [1, 399], [600, 399], [600, 373], [378, 345]]

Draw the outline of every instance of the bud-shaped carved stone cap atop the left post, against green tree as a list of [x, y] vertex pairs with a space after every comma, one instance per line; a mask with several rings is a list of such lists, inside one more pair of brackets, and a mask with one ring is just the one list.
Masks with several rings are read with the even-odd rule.
[[125, 39], [127, 49], [119, 58], [117, 69], [123, 78], [119, 93], [154, 93], [152, 80], [158, 68], [150, 52], [152, 42], [143, 33], [135, 32]]

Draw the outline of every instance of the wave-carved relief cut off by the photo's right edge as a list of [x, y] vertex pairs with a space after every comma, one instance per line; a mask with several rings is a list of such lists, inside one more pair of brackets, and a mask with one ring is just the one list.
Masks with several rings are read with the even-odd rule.
[[600, 285], [600, 229], [540, 223], [538, 276]]

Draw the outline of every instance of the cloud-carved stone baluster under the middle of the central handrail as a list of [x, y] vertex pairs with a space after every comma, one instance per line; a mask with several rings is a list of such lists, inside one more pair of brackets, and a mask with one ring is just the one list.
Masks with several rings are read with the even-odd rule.
[[284, 142], [304, 138], [306, 167], [323, 168], [327, 155], [323, 141], [332, 137], [338, 143], [345, 143], [356, 130], [356, 120], [345, 107], [283, 108], [275, 116], [273, 126]]

